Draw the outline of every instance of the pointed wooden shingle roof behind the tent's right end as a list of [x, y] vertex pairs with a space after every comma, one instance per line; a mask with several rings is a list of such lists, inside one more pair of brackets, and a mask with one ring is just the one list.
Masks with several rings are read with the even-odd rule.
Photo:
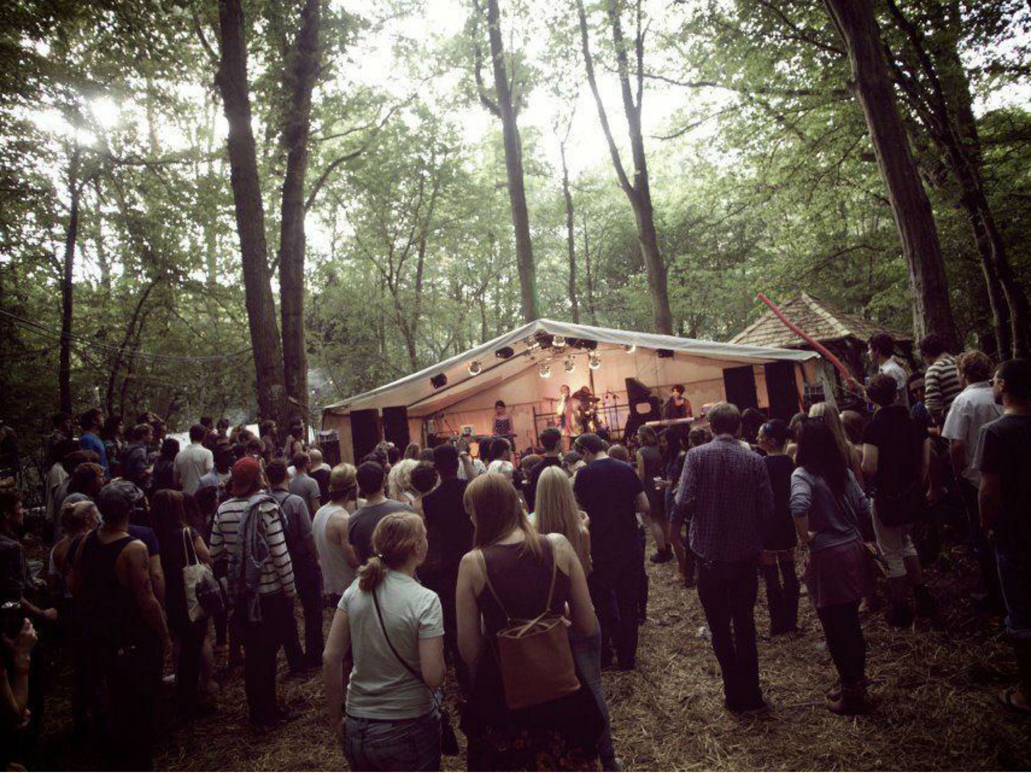
[[[802, 293], [779, 306], [784, 315], [818, 341], [840, 338], [867, 340], [874, 333], [889, 333], [896, 341], [912, 340], [911, 336], [867, 322], [863, 317]], [[781, 348], [804, 346], [805, 341], [793, 333], [772, 311], [766, 309], [752, 325], [731, 339], [731, 343], [749, 343], [754, 346]]]

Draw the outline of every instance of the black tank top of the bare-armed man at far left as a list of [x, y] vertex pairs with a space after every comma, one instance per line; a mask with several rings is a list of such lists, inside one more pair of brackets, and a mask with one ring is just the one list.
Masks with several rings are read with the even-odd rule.
[[115, 565], [133, 537], [104, 544], [93, 531], [82, 540], [79, 567], [87, 589], [86, 620], [94, 643], [106, 650], [140, 645], [157, 634], [140, 616], [132, 589], [119, 581]]

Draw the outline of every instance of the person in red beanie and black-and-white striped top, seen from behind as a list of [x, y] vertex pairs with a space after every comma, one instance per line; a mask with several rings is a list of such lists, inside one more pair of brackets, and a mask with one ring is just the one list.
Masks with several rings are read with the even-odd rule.
[[[231, 474], [232, 498], [219, 507], [211, 527], [211, 562], [217, 576], [225, 574], [222, 567], [228, 565], [236, 546], [240, 522], [247, 512], [250, 499], [261, 493], [265, 482], [261, 463], [252, 457], [244, 457], [234, 464]], [[275, 658], [284, 641], [284, 632], [290, 626], [295, 631], [297, 628], [294, 619], [297, 592], [279, 506], [270, 498], [258, 507], [261, 508], [259, 534], [264, 536], [269, 549], [262, 564], [258, 585], [261, 620], [248, 620], [245, 608], [235, 609], [233, 615], [234, 625], [243, 633], [243, 684], [251, 709], [251, 724], [258, 729], [267, 729], [288, 718], [287, 712], [276, 703]]]

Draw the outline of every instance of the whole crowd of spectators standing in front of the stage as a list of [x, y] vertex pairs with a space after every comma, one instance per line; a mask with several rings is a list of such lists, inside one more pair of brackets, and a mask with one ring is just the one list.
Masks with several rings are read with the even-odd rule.
[[163, 679], [177, 720], [217, 710], [217, 654], [242, 664], [256, 729], [289, 721], [282, 648], [292, 675], [322, 670], [353, 770], [439, 770], [456, 729], [470, 770], [619, 770], [601, 675], [636, 667], [648, 535], [651, 562], [697, 593], [741, 715], [770, 710], [760, 580], [771, 636], [798, 630], [804, 583], [838, 676], [827, 708], [868, 713], [861, 614], [937, 617], [922, 565], [943, 534], [962, 537], [980, 571], [972, 602], [1003, 612], [1013, 642], [1018, 682], [1000, 701], [1029, 713], [1031, 362], [953, 358], [933, 335], [920, 352], [926, 371], [910, 374], [894, 341], [871, 339], [860, 410], [819, 403], [787, 423], [719, 403], [690, 431], [624, 443], [584, 433], [564, 450], [548, 428], [520, 458], [502, 437], [478, 458], [462, 441], [380, 443], [331, 469], [300, 423], [254, 435], [205, 418], [179, 447], [153, 414], [123, 433], [90, 410], [77, 438], [59, 414], [41, 576], [19, 493], [0, 490], [4, 762], [31, 759], [39, 736], [41, 630], [70, 651], [76, 738], [114, 769], [151, 767]]

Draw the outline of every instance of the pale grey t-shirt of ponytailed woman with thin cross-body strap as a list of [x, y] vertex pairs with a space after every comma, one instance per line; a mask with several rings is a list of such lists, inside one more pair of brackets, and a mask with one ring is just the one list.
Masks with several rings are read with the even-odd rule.
[[[433, 708], [430, 691], [391, 651], [372, 594], [360, 590], [358, 582], [343, 592], [338, 605], [347, 613], [355, 658], [347, 683], [347, 713], [369, 719], [410, 719], [428, 714]], [[375, 594], [391, 644], [419, 672], [419, 640], [444, 635], [439, 597], [393, 570], [387, 571]]]

